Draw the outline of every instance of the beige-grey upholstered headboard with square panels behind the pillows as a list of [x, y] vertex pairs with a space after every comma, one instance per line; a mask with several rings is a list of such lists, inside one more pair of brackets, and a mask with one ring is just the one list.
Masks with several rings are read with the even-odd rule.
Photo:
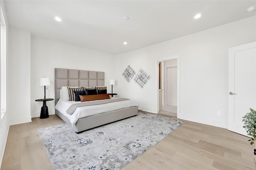
[[104, 72], [55, 68], [55, 104], [62, 86], [104, 86]]

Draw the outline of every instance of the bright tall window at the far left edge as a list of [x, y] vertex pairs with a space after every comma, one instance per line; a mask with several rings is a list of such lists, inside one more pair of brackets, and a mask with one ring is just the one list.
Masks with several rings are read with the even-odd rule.
[[1, 60], [0, 60], [0, 109], [1, 119], [6, 111], [6, 25], [1, 8]]

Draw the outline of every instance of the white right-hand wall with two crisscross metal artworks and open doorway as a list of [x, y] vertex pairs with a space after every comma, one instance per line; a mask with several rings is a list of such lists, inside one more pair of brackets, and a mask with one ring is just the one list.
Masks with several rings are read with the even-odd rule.
[[[116, 93], [139, 101], [139, 109], [157, 113], [157, 62], [180, 55], [180, 114], [185, 120], [227, 128], [228, 48], [256, 41], [256, 17], [116, 55]], [[150, 76], [141, 89], [126, 82], [126, 66]], [[222, 111], [222, 116], [217, 116]]]

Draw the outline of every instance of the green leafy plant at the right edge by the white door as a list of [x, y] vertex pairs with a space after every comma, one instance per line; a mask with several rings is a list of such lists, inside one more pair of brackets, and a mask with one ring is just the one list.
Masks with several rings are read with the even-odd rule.
[[255, 134], [255, 129], [256, 129], [256, 111], [254, 109], [250, 108], [250, 112], [246, 113], [246, 115], [244, 115], [243, 118], [243, 122], [244, 122], [244, 128], [246, 129], [246, 132], [248, 133], [247, 135], [249, 135], [249, 137], [251, 138], [250, 140], [250, 144], [253, 145], [254, 144], [254, 160], [256, 162], [256, 145], [254, 143], [255, 138], [256, 138], [256, 134]]

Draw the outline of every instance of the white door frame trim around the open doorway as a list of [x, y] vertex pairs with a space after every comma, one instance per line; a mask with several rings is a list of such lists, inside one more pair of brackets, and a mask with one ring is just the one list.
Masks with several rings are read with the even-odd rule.
[[165, 59], [161, 59], [156, 61], [156, 113], [159, 111], [159, 89], [158, 89], [158, 83], [159, 83], [159, 62], [167, 61], [177, 59], [177, 118], [180, 118], [180, 55], [173, 55], [171, 57], [167, 57]]

